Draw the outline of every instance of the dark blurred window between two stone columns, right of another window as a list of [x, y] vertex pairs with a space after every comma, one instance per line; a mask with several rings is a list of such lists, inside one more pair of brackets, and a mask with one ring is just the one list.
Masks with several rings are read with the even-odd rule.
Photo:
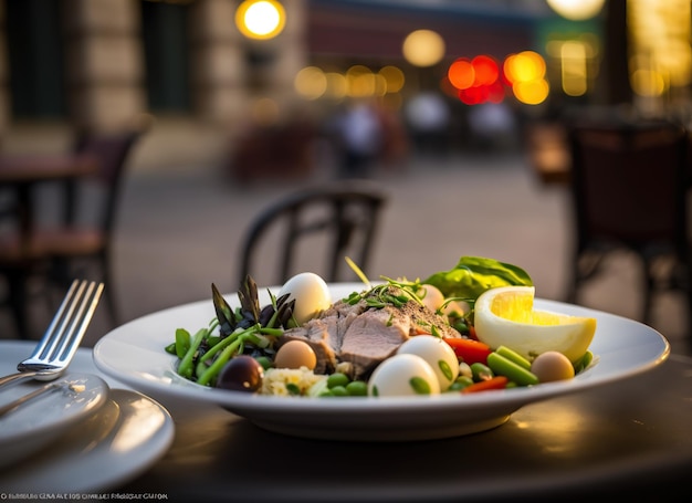
[[141, 2], [146, 90], [153, 112], [190, 111], [190, 2]]

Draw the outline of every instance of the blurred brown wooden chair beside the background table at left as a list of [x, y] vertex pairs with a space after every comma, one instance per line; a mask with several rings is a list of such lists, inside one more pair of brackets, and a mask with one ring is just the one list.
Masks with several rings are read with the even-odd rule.
[[41, 293], [48, 294], [51, 285], [64, 291], [74, 277], [97, 276], [106, 285], [106, 306], [117, 323], [112, 244], [127, 163], [147, 127], [141, 122], [116, 133], [80, 134], [74, 151], [93, 156], [98, 169], [92, 177], [61, 181], [60, 224], [34, 227], [29, 237], [17, 233], [2, 240], [0, 274], [6, 277], [8, 303], [21, 337], [30, 333], [28, 282], [32, 277], [40, 281]]

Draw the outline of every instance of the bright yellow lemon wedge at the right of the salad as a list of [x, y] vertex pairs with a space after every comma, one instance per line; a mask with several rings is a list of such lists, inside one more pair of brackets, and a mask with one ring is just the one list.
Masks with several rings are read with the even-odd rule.
[[554, 350], [577, 363], [594, 339], [596, 319], [534, 311], [534, 286], [483, 292], [475, 301], [476, 337], [493, 349], [506, 346], [530, 360]]

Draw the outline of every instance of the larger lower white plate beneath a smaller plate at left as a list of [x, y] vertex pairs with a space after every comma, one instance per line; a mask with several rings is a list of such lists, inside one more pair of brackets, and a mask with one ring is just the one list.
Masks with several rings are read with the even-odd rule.
[[[34, 344], [0, 343], [0, 374], [12, 371]], [[85, 348], [77, 350], [70, 371], [99, 374]], [[104, 376], [104, 380], [111, 386], [106, 402], [71, 423], [40, 452], [1, 469], [2, 491], [104, 491], [134, 479], [168, 451], [175, 432], [168, 411], [136, 391], [115, 389], [122, 386], [116, 379]]]

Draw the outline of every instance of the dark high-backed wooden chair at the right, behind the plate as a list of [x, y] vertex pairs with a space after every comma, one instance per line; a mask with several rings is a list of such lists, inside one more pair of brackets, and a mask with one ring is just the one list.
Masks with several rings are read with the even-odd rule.
[[[574, 243], [568, 301], [576, 302], [579, 287], [606, 272], [610, 252], [625, 249], [641, 263], [641, 319], [651, 324], [654, 294], [671, 289], [686, 293], [692, 317], [688, 133], [667, 122], [587, 120], [573, 125], [569, 143]], [[662, 261], [671, 265], [663, 268]]]

